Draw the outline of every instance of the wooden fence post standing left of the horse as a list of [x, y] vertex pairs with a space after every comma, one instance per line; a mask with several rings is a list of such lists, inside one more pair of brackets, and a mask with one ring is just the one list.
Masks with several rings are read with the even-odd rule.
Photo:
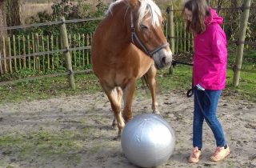
[[68, 38], [67, 38], [66, 24], [65, 24], [65, 18], [64, 17], [62, 17], [62, 24], [60, 26], [60, 30], [61, 30], [61, 36], [62, 36], [62, 46], [63, 46], [63, 48], [66, 48], [66, 51], [63, 52], [65, 62], [66, 62], [66, 71], [70, 72], [70, 74], [68, 74], [67, 77], [68, 77], [68, 80], [70, 82], [70, 87], [72, 89], [75, 89], [74, 74], [73, 74], [73, 70], [72, 70], [72, 61], [71, 61], [70, 51], [69, 51], [70, 47], [69, 47], [69, 41], [68, 41]]

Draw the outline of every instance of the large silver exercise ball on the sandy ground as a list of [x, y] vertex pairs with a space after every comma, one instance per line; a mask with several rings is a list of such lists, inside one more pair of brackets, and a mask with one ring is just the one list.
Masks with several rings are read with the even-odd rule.
[[170, 158], [174, 145], [174, 130], [157, 114], [137, 115], [122, 130], [122, 152], [137, 166], [162, 165]]

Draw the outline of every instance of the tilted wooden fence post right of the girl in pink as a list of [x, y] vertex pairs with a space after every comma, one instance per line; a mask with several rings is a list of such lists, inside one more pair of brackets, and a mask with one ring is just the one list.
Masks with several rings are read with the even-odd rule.
[[243, 1], [243, 12], [242, 17], [240, 18], [240, 30], [238, 34], [238, 48], [237, 48], [237, 56], [235, 58], [235, 65], [234, 65], [234, 78], [233, 78], [233, 86], [238, 86], [239, 78], [240, 78], [240, 70], [242, 67], [242, 55], [244, 49], [244, 41], [246, 38], [246, 27], [248, 24], [248, 18], [250, 14], [250, 0]]

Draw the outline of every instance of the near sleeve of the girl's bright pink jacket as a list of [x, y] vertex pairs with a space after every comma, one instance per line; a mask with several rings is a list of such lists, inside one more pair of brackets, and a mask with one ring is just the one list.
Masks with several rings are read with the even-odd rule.
[[212, 33], [211, 37], [211, 60], [210, 66], [207, 68], [205, 75], [201, 78], [198, 84], [200, 84], [203, 88], [207, 88], [207, 86], [211, 86], [213, 83], [220, 83], [218, 80], [219, 74], [221, 74], [221, 70], [223, 67], [226, 67], [226, 35], [221, 30], [221, 28], [217, 27]]

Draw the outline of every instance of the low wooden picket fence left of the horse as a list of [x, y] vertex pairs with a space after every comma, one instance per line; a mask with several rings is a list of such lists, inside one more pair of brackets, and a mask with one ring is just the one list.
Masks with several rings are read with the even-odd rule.
[[[41, 70], [45, 72], [46, 70], [64, 68], [62, 53], [45, 54], [42, 57], [35, 55], [39, 52], [62, 49], [61, 38], [61, 36], [44, 36], [42, 34], [2, 37], [1, 74], [11, 74], [19, 70]], [[69, 46], [70, 48], [90, 46], [91, 38], [92, 34], [68, 34]], [[17, 57], [26, 54], [32, 55]], [[90, 65], [90, 50], [73, 50], [70, 54], [74, 68]]]

